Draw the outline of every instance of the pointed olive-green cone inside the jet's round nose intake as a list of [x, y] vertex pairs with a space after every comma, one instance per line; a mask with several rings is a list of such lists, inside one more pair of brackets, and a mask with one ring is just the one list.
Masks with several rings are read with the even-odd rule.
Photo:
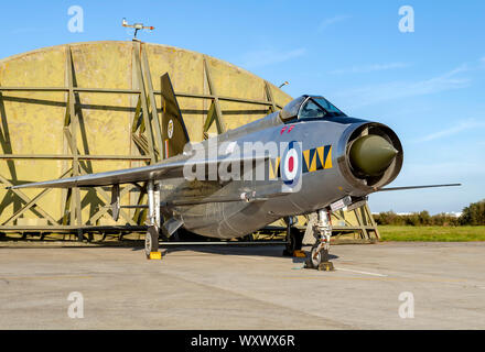
[[352, 144], [352, 166], [365, 176], [379, 176], [392, 163], [399, 152], [380, 135], [369, 134]]

